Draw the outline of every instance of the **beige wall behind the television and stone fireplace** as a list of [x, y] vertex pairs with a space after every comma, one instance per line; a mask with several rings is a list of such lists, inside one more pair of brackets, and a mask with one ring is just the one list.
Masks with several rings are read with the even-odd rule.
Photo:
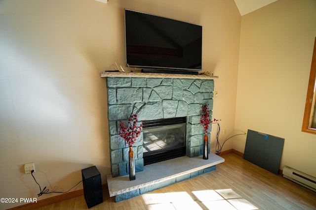
[[[106, 84], [99, 72], [124, 64], [123, 8], [203, 26], [203, 69], [220, 76], [214, 117], [227, 128], [222, 138], [234, 131], [241, 21], [234, 0], [1, 0], [0, 197], [37, 197], [38, 185], [24, 174], [28, 162], [36, 163], [42, 188], [67, 191], [92, 165], [106, 182]], [[229, 142], [224, 150], [231, 148]]]

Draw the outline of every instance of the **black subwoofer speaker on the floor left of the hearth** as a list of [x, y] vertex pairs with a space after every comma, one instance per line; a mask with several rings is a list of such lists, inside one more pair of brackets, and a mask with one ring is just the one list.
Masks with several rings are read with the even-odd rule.
[[97, 167], [81, 170], [84, 199], [88, 208], [103, 202], [101, 175]]

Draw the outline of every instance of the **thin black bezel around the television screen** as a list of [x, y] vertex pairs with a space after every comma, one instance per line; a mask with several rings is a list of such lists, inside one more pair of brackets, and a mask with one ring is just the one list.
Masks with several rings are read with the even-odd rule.
[[[173, 21], [178, 21], [178, 22], [182, 22], [185, 24], [190, 24], [190, 25], [194, 25], [194, 26], [199, 26], [201, 27], [201, 37], [202, 37], [202, 26], [198, 25], [198, 24], [193, 24], [193, 23], [189, 23], [189, 22], [184, 22], [184, 21], [180, 21], [180, 20], [176, 20], [176, 19], [172, 19], [172, 18], [167, 18], [167, 17], [163, 17], [163, 16], [159, 16], [159, 15], [154, 15], [154, 14], [150, 14], [150, 13], [145, 13], [145, 12], [140, 12], [140, 11], [136, 11], [136, 10], [132, 10], [132, 9], [124, 9], [124, 42], [125, 42], [125, 66], [128, 67], [136, 67], [136, 68], [140, 68], [142, 69], [142, 71], [144, 70], [144, 72], [163, 72], [163, 73], [181, 73], [181, 72], [188, 72], [186, 74], [198, 74], [199, 71], [202, 70], [202, 47], [203, 45], [201, 44], [201, 68], [197, 69], [197, 68], [181, 68], [181, 67], [165, 67], [165, 66], [147, 66], [147, 65], [129, 65], [127, 63], [127, 47], [126, 47], [126, 10], [128, 11], [132, 11], [132, 12], [137, 12], [137, 13], [142, 13], [142, 14], [146, 14], [146, 15], [152, 15], [155, 17], [160, 17], [160, 18], [164, 18], [164, 19], [168, 19], [168, 20], [173, 20]], [[190, 73], [191, 72], [191, 73]]]

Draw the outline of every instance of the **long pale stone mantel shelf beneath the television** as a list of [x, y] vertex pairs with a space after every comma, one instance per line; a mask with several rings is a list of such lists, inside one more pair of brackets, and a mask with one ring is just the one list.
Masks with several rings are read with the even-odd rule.
[[153, 78], [181, 78], [181, 79], [218, 79], [218, 76], [209, 76], [204, 74], [158, 74], [158, 73], [143, 73], [143, 72], [117, 72], [117, 71], [102, 71], [101, 77], [153, 77]]

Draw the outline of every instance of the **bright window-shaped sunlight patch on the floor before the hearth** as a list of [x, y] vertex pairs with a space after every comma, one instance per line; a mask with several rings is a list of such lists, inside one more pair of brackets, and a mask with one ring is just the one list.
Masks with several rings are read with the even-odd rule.
[[142, 198], [149, 210], [258, 210], [232, 189], [147, 193]]

